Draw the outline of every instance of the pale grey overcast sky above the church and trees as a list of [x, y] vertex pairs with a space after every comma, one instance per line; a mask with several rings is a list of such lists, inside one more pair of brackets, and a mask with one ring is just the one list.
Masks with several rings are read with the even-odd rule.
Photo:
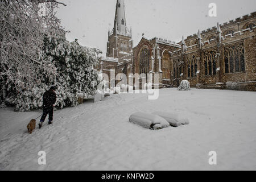
[[[57, 16], [67, 39], [106, 52], [108, 29], [114, 26], [116, 0], [63, 0]], [[209, 17], [209, 3], [216, 3], [217, 17]], [[125, 0], [126, 24], [133, 28], [134, 46], [142, 38], [164, 38], [179, 42], [181, 36], [216, 26], [256, 11], [255, 0]]]

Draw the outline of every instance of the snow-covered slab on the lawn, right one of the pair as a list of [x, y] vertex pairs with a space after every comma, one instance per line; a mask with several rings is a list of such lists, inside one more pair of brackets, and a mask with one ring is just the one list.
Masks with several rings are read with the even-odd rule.
[[155, 112], [154, 114], [164, 118], [173, 127], [189, 124], [187, 118], [180, 117], [178, 114], [175, 113]]

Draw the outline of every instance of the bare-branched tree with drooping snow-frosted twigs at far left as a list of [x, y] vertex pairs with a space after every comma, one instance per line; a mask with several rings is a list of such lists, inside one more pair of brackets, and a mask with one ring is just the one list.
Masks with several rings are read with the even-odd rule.
[[[44, 16], [39, 13], [41, 3], [46, 10]], [[40, 62], [39, 57], [45, 34], [64, 34], [53, 11], [57, 4], [47, 0], [1, 1], [1, 88], [12, 87], [22, 92], [40, 82], [40, 70], [45, 69], [49, 74], [55, 72], [50, 63]]]

